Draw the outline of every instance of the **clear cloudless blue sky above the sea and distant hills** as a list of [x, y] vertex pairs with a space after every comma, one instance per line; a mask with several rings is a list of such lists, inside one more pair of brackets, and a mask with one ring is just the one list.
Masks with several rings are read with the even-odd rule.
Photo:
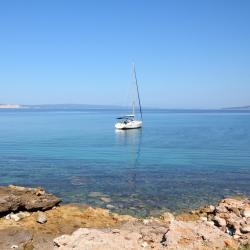
[[0, 1], [0, 103], [250, 105], [248, 0]]

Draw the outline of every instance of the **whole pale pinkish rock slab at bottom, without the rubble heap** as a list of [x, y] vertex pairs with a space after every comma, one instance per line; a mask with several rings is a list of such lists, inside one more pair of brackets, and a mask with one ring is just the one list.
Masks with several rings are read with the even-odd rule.
[[[54, 250], [208, 250], [223, 249], [227, 241], [231, 237], [209, 223], [172, 220], [166, 224], [151, 218], [113, 230], [81, 228], [56, 238]], [[234, 241], [232, 245], [237, 246]]]

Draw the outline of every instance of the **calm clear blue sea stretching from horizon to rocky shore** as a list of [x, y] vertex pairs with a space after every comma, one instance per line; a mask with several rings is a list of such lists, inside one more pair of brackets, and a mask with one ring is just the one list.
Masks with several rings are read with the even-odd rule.
[[64, 202], [138, 215], [250, 195], [250, 112], [0, 111], [0, 185], [42, 186]]

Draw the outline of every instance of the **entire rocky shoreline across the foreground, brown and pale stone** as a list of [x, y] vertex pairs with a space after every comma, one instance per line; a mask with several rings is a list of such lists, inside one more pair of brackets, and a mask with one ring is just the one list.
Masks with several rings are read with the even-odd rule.
[[42, 188], [0, 187], [0, 249], [250, 249], [247, 198], [144, 219], [60, 202]]

